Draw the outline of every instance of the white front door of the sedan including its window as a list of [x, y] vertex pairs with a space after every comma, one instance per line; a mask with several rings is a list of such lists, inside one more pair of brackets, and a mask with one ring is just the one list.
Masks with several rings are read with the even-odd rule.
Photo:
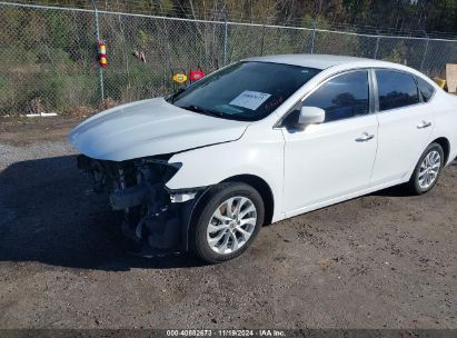
[[282, 129], [287, 217], [369, 187], [378, 121], [370, 113], [368, 76], [350, 71], [324, 82], [302, 106], [322, 108], [325, 122]]

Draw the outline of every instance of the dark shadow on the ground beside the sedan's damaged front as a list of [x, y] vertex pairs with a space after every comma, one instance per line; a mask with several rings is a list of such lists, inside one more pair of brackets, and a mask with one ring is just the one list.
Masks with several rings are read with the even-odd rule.
[[185, 254], [130, 255], [118, 216], [105, 195], [92, 192], [74, 156], [16, 162], [0, 172], [0, 261], [110, 271], [202, 265]]

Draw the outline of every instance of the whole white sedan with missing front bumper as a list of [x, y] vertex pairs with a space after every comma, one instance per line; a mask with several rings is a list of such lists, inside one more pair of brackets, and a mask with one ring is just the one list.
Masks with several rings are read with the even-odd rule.
[[265, 223], [396, 185], [429, 191], [457, 156], [457, 98], [396, 63], [261, 57], [101, 112], [69, 140], [132, 250], [219, 262]]

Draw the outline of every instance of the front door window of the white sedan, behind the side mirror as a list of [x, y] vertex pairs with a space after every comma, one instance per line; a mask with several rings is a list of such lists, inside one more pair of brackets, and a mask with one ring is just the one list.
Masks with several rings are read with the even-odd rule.
[[351, 71], [328, 80], [304, 101], [304, 106], [324, 109], [325, 122], [369, 113], [368, 71]]

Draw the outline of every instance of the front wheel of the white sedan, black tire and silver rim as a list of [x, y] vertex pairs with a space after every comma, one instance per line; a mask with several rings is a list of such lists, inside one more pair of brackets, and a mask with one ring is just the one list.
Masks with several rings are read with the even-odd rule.
[[241, 182], [211, 188], [189, 233], [190, 248], [207, 262], [240, 256], [264, 223], [265, 207], [259, 192]]

